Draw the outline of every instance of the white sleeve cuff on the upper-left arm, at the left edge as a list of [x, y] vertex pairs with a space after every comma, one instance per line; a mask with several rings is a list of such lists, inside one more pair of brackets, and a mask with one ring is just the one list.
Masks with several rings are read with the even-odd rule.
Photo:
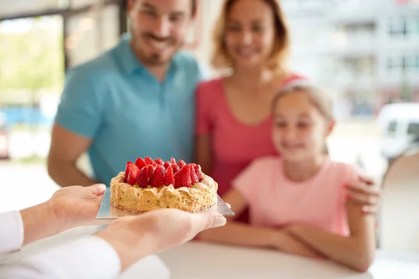
[[0, 213], [0, 255], [19, 250], [23, 243], [23, 222], [19, 211]]

